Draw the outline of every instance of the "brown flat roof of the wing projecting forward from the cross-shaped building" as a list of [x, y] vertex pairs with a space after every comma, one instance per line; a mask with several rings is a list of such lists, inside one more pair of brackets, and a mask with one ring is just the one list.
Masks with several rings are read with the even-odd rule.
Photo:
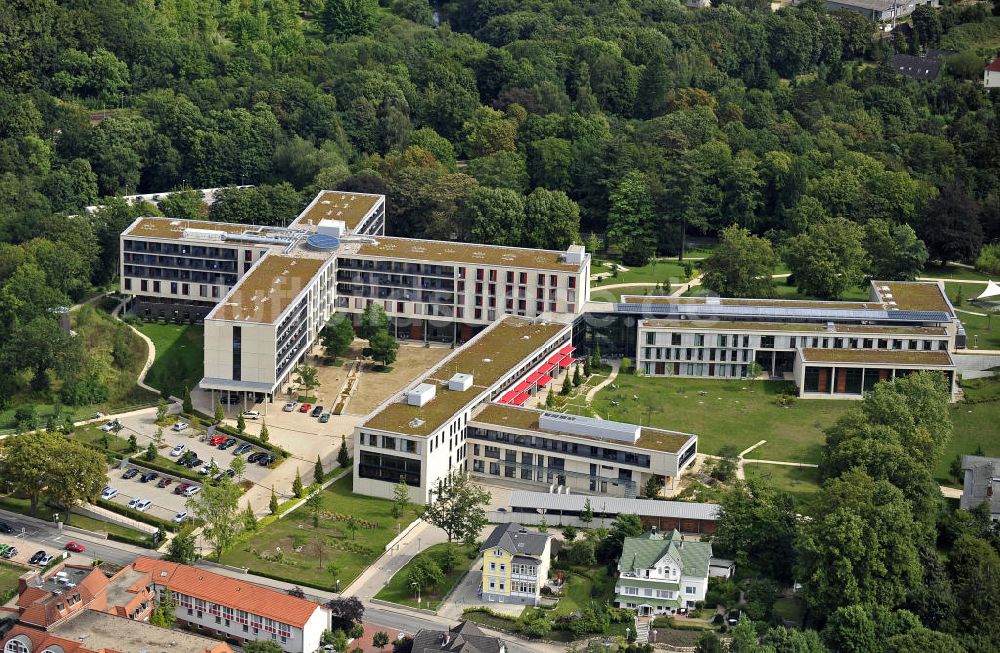
[[206, 319], [272, 324], [327, 260], [269, 253], [237, 282]]

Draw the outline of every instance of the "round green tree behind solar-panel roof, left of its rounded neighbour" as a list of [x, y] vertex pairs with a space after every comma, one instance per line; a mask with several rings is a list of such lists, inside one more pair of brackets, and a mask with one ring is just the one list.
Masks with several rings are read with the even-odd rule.
[[733, 225], [702, 262], [701, 284], [723, 297], [772, 297], [771, 275], [778, 257], [770, 241]]

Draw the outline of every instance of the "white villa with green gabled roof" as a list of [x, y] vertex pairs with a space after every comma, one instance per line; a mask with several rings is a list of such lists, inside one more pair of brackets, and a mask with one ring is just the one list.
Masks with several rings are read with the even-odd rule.
[[676, 530], [627, 537], [618, 560], [615, 604], [640, 615], [673, 614], [705, 600], [712, 545]]

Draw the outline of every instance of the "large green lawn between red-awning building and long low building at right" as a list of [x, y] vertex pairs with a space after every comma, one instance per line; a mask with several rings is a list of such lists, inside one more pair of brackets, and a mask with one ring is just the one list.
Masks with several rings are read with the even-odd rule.
[[[594, 399], [602, 418], [696, 433], [698, 450], [710, 454], [727, 444], [742, 451], [767, 440], [747, 457], [804, 463], [819, 462], [823, 429], [853, 405], [799, 399], [783, 408], [775, 400], [790, 388], [781, 381], [619, 375], [615, 384], [618, 389], [609, 386]], [[620, 404], [611, 406], [612, 400]]]

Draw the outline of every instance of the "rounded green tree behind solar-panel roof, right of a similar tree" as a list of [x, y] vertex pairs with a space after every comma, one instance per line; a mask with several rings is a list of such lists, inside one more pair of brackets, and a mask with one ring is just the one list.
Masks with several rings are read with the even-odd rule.
[[864, 230], [844, 218], [823, 220], [789, 238], [784, 258], [799, 290], [837, 299], [861, 285], [869, 268], [863, 239]]

